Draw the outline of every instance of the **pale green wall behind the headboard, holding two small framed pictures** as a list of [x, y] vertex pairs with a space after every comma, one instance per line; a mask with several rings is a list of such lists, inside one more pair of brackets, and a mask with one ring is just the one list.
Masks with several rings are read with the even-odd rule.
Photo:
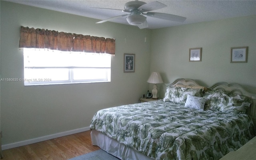
[[[205, 86], [234, 82], [256, 94], [256, 15], [156, 29], [151, 43], [151, 70], [159, 71], [164, 83], [177, 78]], [[230, 48], [240, 46], [248, 46], [248, 62], [230, 63]], [[202, 62], [189, 62], [189, 48], [198, 47]]]

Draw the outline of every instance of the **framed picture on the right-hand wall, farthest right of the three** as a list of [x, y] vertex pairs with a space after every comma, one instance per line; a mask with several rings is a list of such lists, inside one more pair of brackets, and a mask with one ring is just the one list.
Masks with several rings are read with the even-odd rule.
[[246, 63], [248, 47], [232, 47], [230, 63]]

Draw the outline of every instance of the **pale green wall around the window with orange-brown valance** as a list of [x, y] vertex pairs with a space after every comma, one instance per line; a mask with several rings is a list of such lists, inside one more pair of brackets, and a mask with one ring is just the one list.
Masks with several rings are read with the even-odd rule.
[[[23, 78], [20, 26], [116, 39], [111, 82], [24, 86], [1, 82], [2, 144], [88, 127], [102, 108], [136, 103], [148, 90], [150, 30], [1, 1], [1, 78]], [[148, 42], [144, 42], [144, 37]], [[124, 41], [126, 38], [126, 43]], [[136, 54], [135, 72], [123, 72], [124, 53]]]

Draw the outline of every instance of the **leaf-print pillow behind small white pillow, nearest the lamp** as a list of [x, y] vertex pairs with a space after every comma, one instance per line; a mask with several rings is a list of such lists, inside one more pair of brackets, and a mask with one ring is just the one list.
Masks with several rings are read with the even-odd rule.
[[163, 101], [184, 105], [188, 94], [191, 94], [192, 96], [201, 96], [202, 89], [167, 86]]

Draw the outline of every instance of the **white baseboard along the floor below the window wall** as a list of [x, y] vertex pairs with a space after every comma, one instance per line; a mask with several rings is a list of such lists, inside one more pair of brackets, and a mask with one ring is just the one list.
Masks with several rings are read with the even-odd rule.
[[20, 142], [4, 144], [4, 145], [2, 145], [2, 150], [7, 150], [7, 149], [10, 149], [10, 148], [15, 148], [15, 147], [20, 147], [20, 146], [25, 146], [25, 145], [28, 145], [28, 144], [42, 142], [42, 141], [45, 141], [45, 140], [50, 140], [50, 139], [58, 138], [58, 137], [62, 137], [62, 136], [68, 136], [70, 134], [75, 134], [75, 133], [84, 132], [84, 131], [88, 131], [88, 130], [90, 130], [90, 127], [84, 127], [84, 128], [78, 128], [78, 129], [75, 129], [75, 130], [69, 130], [69, 131], [60, 132], [60, 133], [56, 133], [56, 134], [50, 134], [50, 135], [42, 136], [42, 137], [38, 137], [38, 138], [33, 138], [33, 139], [30, 139], [30, 140], [23, 140], [23, 141], [20, 141]]

